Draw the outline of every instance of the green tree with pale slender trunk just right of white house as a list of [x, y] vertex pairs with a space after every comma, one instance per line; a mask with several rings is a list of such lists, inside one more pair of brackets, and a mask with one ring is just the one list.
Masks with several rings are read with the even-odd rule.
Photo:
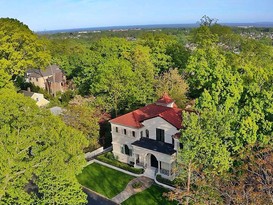
[[[227, 122], [232, 122], [232, 114], [203, 110], [183, 114], [180, 142], [183, 148], [178, 154], [182, 184], [170, 194], [171, 199], [180, 203], [219, 203], [220, 193], [212, 185], [216, 176], [222, 176], [231, 166], [229, 144], [226, 143], [232, 130]], [[182, 186], [181, 186], [182, 185]]]

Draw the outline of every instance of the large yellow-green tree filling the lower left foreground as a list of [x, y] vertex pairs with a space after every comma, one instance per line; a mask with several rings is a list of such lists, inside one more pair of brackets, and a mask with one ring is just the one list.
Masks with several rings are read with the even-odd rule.
[[0, 204], [86, 203], [75, 176], [88, 144], [80, 132], [32, 99], [0, 89], [0, 136]]

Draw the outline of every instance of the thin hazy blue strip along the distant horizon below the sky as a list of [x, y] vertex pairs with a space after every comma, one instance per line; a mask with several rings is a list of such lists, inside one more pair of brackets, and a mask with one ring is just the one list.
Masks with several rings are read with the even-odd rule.
[[[273, 27], [273, 22], [257, 22], [257, 23], [220, 23], [231, 27]], [[132, 25], [132, 26], [108, 26], [108, 27], [91, 27], [91, 28], [72, 28], [49, 31], [38, 31], [38, 34], [54, 34], [54, 33], [71, 33], [83, 31], [107, 31], [107, 30], [134, 30], [134, 29], [160, 29], [160, 28], [194, 28], [199, 24], [155, 24], [155, 25]]]

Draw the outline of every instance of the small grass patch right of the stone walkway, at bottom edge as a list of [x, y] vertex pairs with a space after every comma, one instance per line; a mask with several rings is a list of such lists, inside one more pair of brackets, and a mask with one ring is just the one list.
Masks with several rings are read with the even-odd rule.
[[167, 189], [152, 185], [150, 188], [131, 196], [124, 201], [122, 205], [174, 205], [175, 201], [168, 201], [166, 197], [162, 196], [164, 192], [168, 192]]

